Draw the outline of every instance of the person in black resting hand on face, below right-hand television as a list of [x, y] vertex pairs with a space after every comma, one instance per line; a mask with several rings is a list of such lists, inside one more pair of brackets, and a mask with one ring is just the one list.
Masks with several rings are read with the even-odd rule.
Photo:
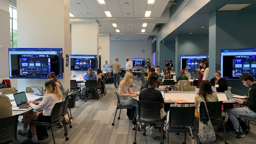
[[228, 90], [228, 82], [226, 79], [220, 77], [220, 71], [214, 72], [214, 78], [210, 80], [212, 86], [216, 87], [217, 92], [224, 93], [225, 90]]

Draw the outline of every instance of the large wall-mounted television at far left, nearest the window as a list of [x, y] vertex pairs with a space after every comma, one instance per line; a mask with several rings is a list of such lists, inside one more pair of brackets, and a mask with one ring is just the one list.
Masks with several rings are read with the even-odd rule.
[[62, 48], [9, 48], [11, 79], [47, 79], [54, 72], [63, 78]]

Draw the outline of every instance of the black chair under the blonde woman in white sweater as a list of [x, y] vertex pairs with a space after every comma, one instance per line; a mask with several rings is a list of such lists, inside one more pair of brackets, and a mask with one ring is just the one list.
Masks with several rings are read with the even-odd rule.
[[[31, 127], [32, 125], [35, 125], [35, 126], [41, 126], [41, 127], [51, 127], [54, 144], [55, 144], [55, 139], [54, 139], [52, 128], [53, 128], [53, 126], [55, 126], [63, 121], [63, 118], [61, 115], [63, 103], [64, 103], [64, 101], [58, 102], [54, 105], [54, 107], [52, 109], [52, 113], [51, 113], [51, 122], [48, 123], [48, 122], [32, 121], [29, 126], [29, 127]], [[30, 136], [31, 136], [31, 132], [29, 132], [29, 138], [28, 138], [29, 143], [30, 143]], [[69, 138], [66, 137], [66, 140], [69, 140]]]

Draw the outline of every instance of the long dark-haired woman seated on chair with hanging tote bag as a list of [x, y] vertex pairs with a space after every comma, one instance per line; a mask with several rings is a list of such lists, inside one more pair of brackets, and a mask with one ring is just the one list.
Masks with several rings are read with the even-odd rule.
[[209, 81], [202, 81], [199, 87], [199, 93], [195, 96], [195, 117], [199, 118], [199, 108], [201, 102], [218, 102], [217, 94], [212, 91]]

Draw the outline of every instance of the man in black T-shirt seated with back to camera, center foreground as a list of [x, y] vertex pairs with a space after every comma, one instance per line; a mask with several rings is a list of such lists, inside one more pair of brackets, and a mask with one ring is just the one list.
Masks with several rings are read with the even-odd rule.
[[[160, 91], [155, 90], [157, 86], [157, 78], [155, 76], [148, 77], [148, 88], [140, 91], [139, 100], [140, 101], [148, 101], [148, 102], [159, 102], [160, 108], [164, 108], [164, 99]], [[161, 118], [166, 116], [166, 113], [161, 111]], [[156, 138], [156, 129], [155, 125], [150, 124], [150, 126], [146, 127], [147, 132], [150, 134], [151, 138]]]

